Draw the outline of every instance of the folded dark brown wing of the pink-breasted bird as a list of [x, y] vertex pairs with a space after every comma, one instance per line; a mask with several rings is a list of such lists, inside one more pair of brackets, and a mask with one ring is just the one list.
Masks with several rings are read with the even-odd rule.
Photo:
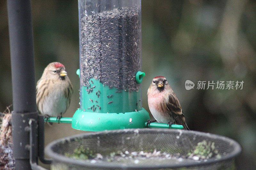
[[185, 121], [185, 117], [180, 106], [180, 102], [176, 94], [172, 91], [172, 95], [169, 95], [169, 101], [167, 102], [167, 108], [170, 111], [169, 114], [175, 119], [175, 123], [183, 126], [184, 129], [188, 129]]

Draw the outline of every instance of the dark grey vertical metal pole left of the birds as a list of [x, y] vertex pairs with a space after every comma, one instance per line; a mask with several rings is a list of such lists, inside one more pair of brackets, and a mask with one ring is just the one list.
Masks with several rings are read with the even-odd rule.
[[36, 109], [35, 62], [30, 0], [7, 0], [12, 65], [12, 138], [16, 169], [29, 164], [30, 118], [38, 119]]

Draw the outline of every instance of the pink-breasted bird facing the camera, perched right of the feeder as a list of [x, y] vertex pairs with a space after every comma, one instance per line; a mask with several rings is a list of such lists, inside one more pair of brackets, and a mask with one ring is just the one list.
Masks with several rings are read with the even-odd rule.
[[167, 123], [169, 128], [172, 124], [179, 124], [183, 129], [189, 130], [180, 102], [166, 78], [163, 76], [153, 78], [147, 95], [149, 110], [156, 119], [148, 120], [147, 125], [157, 121]]

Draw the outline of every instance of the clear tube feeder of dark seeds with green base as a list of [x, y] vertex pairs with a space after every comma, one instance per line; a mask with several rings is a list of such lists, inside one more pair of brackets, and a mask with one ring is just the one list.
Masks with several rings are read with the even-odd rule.
[[80, 108], [72, 128], [144, 128], [141, 1], [78, 0]]

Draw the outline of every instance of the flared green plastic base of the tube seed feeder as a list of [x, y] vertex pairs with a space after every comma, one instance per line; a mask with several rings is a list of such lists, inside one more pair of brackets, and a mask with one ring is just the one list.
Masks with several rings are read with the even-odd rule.
[[84, 112], [80, 108], [72, 118], [72, 128], [84, 131], [102, 131], [127, 128], [145, 128], [150, 117], [142, 108], [137, 112], [127, 113], [96, 113]]

